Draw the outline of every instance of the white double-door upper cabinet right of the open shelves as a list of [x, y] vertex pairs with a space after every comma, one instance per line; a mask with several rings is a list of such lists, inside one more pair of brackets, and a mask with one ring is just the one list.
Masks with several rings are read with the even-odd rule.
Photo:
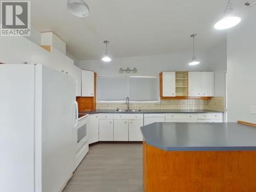
[[189, 97], [214, 96], [214, 72], [188, 72]]

